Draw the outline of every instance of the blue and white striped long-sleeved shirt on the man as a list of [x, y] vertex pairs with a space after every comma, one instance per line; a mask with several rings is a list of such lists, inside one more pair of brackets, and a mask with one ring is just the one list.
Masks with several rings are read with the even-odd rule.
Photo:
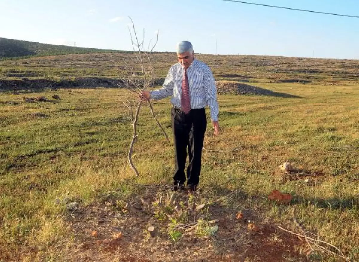
[[[172, 95], [173, 106], [181, 107], [182, 80], [185, 68], [177, 63], [173, 65], [164, 80], [163, 87], [153, 90], [151, 98], [162, 99]], [[217, 88], [210, 68], [197, 59], [187, 68], [188, 84], [190, 86], [191, 108], [209, 106], [211, 119], [218, 121]]]

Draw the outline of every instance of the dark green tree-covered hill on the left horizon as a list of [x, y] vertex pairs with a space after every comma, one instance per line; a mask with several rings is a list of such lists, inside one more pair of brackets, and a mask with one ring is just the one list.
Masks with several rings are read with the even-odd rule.
[[123, 53], [129, 51], [48, 45], [0, 37], [0, 59], [26, 56], [53, 56], [81, 53]]

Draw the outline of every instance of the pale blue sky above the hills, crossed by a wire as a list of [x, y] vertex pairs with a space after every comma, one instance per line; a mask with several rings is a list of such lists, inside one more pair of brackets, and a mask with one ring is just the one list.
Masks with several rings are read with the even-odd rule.
[[[358, 0], [247, 0], [359, 16]], [[359, 18], [222, 0], [0, 0], [0, 37], [132, 50], [130, 16], [155, 51], [191, 41], [195, 52], [359, 59]]]

